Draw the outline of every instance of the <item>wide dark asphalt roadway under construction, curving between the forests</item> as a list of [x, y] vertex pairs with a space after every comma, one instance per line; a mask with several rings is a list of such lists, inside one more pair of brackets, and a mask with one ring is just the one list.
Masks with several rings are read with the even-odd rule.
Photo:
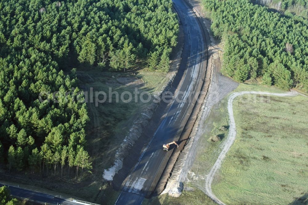
[[[184, 0], [173, 0], [176, 12], [180, 17], [184, 32], [183, 56], [188, 56], [184, 79], [178, 86], [178, 94], [165, 113], [148, 146], [141, 154], [138, 163], [128, 175], [123, 189], [115, 204], [141, 204], [144, 196], [151, 189], [158, 170], [166, 160], [166, 151], [162, 145], [178, 139], [187, 121], [189, 108], [193, 100], [191, 96], [198, 90], [201, 74], [206, 63], [206, 46], [196, 15]], [[200, 90], [200, 89], [199, 89]], [[176, 98], [178, 100], [176, 100]], [[174, 147], [174, 145], [173, 145]], [[170, 155], [168, 155], [170, 156]]]

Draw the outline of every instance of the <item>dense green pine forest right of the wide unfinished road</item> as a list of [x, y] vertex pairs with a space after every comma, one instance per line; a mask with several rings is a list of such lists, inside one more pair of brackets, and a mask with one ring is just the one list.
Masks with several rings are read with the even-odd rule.
[[203, 1], [213, 34], [224, 45], [222, 72], [238, 82], [262, 77], [267, 85], [308, 92], [306, 21], [283, 16], [249, 0]]

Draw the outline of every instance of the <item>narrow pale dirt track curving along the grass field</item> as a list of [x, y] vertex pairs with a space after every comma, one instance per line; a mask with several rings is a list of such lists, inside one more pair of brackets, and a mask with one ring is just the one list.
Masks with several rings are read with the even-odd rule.
[[234, 116], [233, 116], [233, 107], [232, 103], [233, 100], [243, 94], [261, 94], [261, 95], [275, 95], [275, 96], [280, 96], [280, 97], [285, 97], [285, 96], [295, 96], [298, 95], [297, 92], [291, 90], [288, 93], [267, 93], [267, 92], [257, 92], [257, 91], [242, 91], [242, 92], [237, 92], [233, 93], [230, 95], [229, 100], [228, 100], [228, 113], [229, 113], [229, 133], [227, 136], [227, 139], [223, 145], [223, 149], [218, 156], [218, 159], [216, 160], [214, 166], [210, 170], [209, 174], [206, 176], [205, 180], [205, 190], [206, 194], [213, 199], [217, 204], [224, 204], [221, 202], [212, 192], [211, 184], [213, 182], [214, 175], [216, 171], [220, 168], [222, 160], [225, 158], [227, 152], [229, 151], [231, 145], [233, 144], [236, 136], [236, 127], [235, 127], [235, 121], [234, 121]]

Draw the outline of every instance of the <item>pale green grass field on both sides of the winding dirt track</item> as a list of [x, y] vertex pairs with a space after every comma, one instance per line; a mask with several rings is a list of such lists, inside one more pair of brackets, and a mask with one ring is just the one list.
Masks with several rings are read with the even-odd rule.
[[[249, 90], [283, 92], [247, 84], [234, 92]], [[227, 100], [213, 107], [188, 173], [200, 189], [228, 134], [219, 129], [228, 125]], [[233, 107], [237, 138], [213, 181], [215, 195], [226, 204], [307, 204], [308, 98], [243, 95]], [[211, 142], [214, 135], [221, 141]]]

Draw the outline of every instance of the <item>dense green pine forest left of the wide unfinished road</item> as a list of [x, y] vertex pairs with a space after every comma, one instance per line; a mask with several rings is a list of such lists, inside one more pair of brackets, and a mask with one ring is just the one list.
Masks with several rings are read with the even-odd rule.
[[171, 0], [3, 0], [0, 19], [2, 169], [75, 178], [91, 169], [89, 117], [67, 65], [168, 71], [179, 30]]

